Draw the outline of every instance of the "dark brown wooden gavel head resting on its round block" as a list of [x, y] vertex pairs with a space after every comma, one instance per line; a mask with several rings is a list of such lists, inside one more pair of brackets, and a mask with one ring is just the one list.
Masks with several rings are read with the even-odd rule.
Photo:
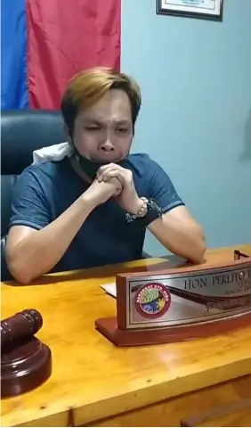
[[36, 309], [26, 309], [1, 321], [1, 347], [30, 338], [43, 325], [43, 318]]

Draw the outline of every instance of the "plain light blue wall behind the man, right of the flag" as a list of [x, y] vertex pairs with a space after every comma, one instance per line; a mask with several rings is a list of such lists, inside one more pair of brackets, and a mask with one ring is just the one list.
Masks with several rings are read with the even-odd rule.
[[[223, 22], [122, 0], [122, 70], [142, 86], [135, 152], [166, 169], [207, 246], [251, 242], [251, 0]], [[166, 251], [148, 236], [146, 250]]]

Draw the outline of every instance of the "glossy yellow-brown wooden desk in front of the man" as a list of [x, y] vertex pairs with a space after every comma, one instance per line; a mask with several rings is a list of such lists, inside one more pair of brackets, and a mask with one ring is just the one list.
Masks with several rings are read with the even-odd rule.
[[[251, 245], [234, 248], [251, 254]], [[211, 250], [206, 263], [232, 257], [233, 248]], [[44, 326], [37, 336], [53, 352], [53, 374], [44, 385], [2, 401], [2, 426], [180, 426], [213, 407], [250, 399], [251, 327], [126, 349], [95, 331], [96, 318], [116, 311], [99, 285], [114, 281], [115, 272], [161, 262], [44, 276], [30, 286], [2, 284], [2, 318], [38, 309]], [[250, 424], [251, 407], [245, 417]]]

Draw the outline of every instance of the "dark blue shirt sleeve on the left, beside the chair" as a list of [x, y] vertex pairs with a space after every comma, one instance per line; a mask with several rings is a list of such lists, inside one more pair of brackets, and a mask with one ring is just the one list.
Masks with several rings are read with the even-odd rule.
[[50, 223], [50, 210], [43, 191], [43, 178], [28, 167], [18, 178], [12, 196], [12, 226], [29, 226], [36, 230]]

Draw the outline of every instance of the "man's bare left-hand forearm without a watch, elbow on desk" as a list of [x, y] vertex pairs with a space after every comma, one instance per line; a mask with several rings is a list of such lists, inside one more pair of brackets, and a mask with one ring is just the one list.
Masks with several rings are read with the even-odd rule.
[[7, 241], [6, 259], [12, 276], [28, 284], [37, 276], [49, 272], [68, 250], [94, 208], [93, 199], [84, 193], [48, 226], [23, 237], [15, 245], [11, 256], [8, 255]]

